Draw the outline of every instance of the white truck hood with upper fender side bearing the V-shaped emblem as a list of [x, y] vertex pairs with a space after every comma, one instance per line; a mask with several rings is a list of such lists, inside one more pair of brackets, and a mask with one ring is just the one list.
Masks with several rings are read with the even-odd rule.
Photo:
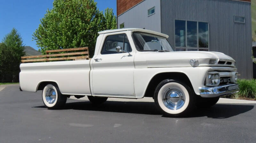
[[[215, 64], [209, 64], [209, 60], [211, 59], [217, 59], [217, 62]], [[192, 65], [190, 60], [196, 60], [196, 63]], [[144, 66], [147, 65], [147, 68], [200, 66], [235, 67], [235, 60], [220, 52], [140, 52], [140, 54], [136, 54], [135, 67], [142, 68], [144, 67], [143, 64]]]

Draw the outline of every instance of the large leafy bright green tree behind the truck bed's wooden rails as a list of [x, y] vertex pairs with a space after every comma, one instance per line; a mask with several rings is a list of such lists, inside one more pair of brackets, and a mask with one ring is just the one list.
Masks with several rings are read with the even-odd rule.
[[54, 0], [33, 34], [39, 51], [88, 46], [92, 56], [98, 31], [113, 29], [116, 18], [108, 9], [106, 19], [96, 5], [94, 0]]

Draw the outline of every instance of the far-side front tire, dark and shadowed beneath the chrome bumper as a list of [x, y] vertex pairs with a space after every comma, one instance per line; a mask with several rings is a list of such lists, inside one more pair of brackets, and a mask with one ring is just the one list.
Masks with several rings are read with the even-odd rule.
[[219, 101], [219, 99], [220, 97], [213, 97], [213, 98], [197, 97], [196, 106], [199, 108], [209, 108], [215, 105]]

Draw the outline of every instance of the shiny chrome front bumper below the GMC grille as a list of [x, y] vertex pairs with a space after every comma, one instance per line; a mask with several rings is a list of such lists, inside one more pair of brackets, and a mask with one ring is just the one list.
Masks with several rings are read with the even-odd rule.
[[239, 91], [238, 84], [199, 88], [201, 97], [219, 97], [224, 95], [231, 95], [238, 91]]

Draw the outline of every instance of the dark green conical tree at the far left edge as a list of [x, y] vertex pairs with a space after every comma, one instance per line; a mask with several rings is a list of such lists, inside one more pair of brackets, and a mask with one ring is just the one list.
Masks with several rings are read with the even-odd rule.
[[18, 77], [21, 56], [24, 56], [24, 45], [20, 33], [13, 28], [0, 44], [0, 74], [1, 81], [12, 81], [12, 76]]

